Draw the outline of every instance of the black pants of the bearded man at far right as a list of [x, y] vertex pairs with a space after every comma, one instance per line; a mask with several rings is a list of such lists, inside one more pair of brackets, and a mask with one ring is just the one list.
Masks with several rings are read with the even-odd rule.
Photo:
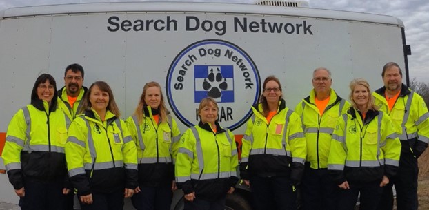
[[419, 207], [419, 200], [417, 198], [418, 176], [419, 165], [417, 163], [417, 158], [408, 152], [401, 153], [397, 175], [390, 180], [389, 185], [384, 187], [383, 196], [381, 196], [378, 209], [393, 209], [392, 186], [395, 185], [397, 192], [397, 209], [417, 210]]

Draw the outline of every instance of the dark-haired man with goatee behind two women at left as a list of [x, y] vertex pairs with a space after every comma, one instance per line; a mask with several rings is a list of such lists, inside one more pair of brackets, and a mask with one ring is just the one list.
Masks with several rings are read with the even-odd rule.
[[79, 110], [81, 99], [88, 88], [83, 87], [83, 67], [77, 63], [68, 65], [64, 72], [64, 83], [66, 86], [58, 91], [59, 106], [68, 118], [76, 118]]

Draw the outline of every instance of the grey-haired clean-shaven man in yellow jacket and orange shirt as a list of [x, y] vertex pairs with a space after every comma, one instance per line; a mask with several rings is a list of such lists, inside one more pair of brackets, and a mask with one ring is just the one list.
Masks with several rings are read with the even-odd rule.
[[337, 118], [347, 111], [350, 103], [330, 88], [331, 72], [325, 67], [313, 71], [312, 85], [310, 96], [295, 107], [307, 142], [301, 189], [303, 209], [335, 210], [339, 187], [328, 175], [328, 156]]

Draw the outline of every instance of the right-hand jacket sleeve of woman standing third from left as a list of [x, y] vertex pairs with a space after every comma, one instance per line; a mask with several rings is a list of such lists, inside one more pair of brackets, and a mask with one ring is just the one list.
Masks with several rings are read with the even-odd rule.
[[128, 127], [123, 120], [120, 120], [123, 134], [123, 163], [126, 169], [125, 187], [135, 189], [138, 186], [138, 171], [137, 171], [137, 149], [134, 141], [131, 138]]

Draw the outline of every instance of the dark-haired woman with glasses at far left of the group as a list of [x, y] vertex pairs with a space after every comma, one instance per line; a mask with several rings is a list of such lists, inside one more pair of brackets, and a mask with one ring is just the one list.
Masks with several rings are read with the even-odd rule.
[[30, 105], [10, 120], [2, 156], [23, 210], [66, 209], [66, 119], [58, 109], [54, 78], [41, 74]]

